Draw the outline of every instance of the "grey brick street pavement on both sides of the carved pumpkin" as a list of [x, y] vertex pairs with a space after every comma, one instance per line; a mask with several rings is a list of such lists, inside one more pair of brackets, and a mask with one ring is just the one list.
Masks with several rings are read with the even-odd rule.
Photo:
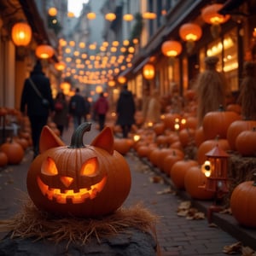
[[[95, 125], [92, 125], [92, 130], [84, 134], [84, 143], [89, 144], [98, 132]], [[63, 141], [67, 144], [70, 143], [71, 133], [72, 129], [65, 131]], [[158, 180], [162, 182], [152, 183], [153, 179], [160, 177], [160, 173], [138, 159], [133, 152], [126, 154], [125, 159], [131, 167], [132, 184], [131, 193], [124, 205], [133, 206], [141, 203], [143, 207], [160, 217], [156, 224], [156, 235], [163, 256], [226, 255], [223, 249], [238, 241], [236, 233], [241, 232], [241, 236], [244, 236], [246, 230], [244, 232], [241, 229], [237, 230], [234, 228], [236, 224], [231, 225], [233, 233], [230, 230], [229, 233], [222, 230], [226, 224], [224, 218], [219, 218], [223, 221], [219, 228], [217, 225], [210, 227], [207, 218], [189, 220], [178, 217], [177, 207], [182, 201], [189, 200], [188, 196], [185, 193], [178, 195], [168, 193], [171, 185], [165, 177]], [[26, 195], [26, 171], [31, 160], [32, 152], [28, 151], [19, 166], [7, 166], [0, 170], [0, 219], [9, 218], [19, 211], [22, 203], [20, 197]], [[207, 203], [205, 205], [204, 202], [194, 201], [193, 203], [200, 210], [206, 211]], [[218, 216], [219, 213], [214, 213], [212, 220], [221, 223]], [[250, 235], [251, 239], [252, 237]], [[250, 242], [256, 245], [256, 239]], [[241, 255], [241, 253], [238, 254]]]

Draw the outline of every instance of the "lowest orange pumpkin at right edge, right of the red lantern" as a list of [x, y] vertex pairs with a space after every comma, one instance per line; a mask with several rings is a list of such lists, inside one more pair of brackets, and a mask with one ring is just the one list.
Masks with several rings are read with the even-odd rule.
[[256, 173], [253, 174], [253, 181], [238, 184], [230, 197], [230, 208], [239, 224], [256, 228], [255, 196]]

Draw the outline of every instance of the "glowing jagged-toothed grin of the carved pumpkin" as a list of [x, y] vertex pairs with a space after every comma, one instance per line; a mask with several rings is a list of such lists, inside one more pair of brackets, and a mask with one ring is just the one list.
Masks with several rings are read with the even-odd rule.
[[60, 204], [73, 203], [80, 204], [85, 200], [92, 200], [98, 193], [102, 191], [106, 184], [107, 177], [103, 177], [102, 181], [90, 186], [90, 189], [79, 189], [74, 192], [72, 189], [61, 191], [61, 189], [49, 188], [40, 177], [38, 177], [38, 187], [42, 194], [47, 196], [49, 201], [56, 201]]

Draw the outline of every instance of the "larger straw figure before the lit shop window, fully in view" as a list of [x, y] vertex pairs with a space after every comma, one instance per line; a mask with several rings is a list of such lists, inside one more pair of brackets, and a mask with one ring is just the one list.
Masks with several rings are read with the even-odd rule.
[[225, 107], [228, 86], [224, 73], [220, 73], [216, 69], [217, 63], [217, 56], [206, 57], [206, 70], [199, 74], [195, 82], [198, 126], [202, 125], [206, 113], [218, 110], [220, 105]]

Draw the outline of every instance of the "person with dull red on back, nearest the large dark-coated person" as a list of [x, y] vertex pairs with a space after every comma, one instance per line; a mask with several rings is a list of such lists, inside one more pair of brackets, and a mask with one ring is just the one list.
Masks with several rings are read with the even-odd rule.
[[58, 130], [60, 131], [61, 137], [63, 135], [64, 127], [67, 125], [68, 119], [68, 103], [66, 96], [63, 92], [58, 92], [55, 97], [55, 114], [53, 121], [57, 125]]

